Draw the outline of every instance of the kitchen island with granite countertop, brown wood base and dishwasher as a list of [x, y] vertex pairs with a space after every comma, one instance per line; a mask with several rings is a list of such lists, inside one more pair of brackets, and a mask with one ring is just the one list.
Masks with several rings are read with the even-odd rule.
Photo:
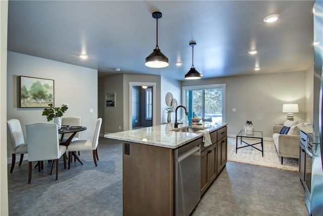
[[[200, 129], [212, 145], [204, 147], [203, 134], [194, 133]], [[105, 135], [123, 141], [123, 214], [189, 215], [226, 164], [226, 135], [227, 123], [212, 122]]]

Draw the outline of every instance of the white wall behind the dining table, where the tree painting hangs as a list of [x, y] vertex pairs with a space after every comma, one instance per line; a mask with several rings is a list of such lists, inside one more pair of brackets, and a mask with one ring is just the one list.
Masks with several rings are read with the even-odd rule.
[[[19, 81], [17, 77], [20, 75], [54, 79], [55, 106], [69, 104], [69, 109], [64, 116], [80, 116], [81, 125], [87, 127], [86, 131], [80, 133], [80, 138], [93, 138], [98, 117], [97, 70], [8, 52], [7, 118], [19, 119], [26, 136], [26, 124], [47, 122], [47, 120], [41, 115], [43, 108], [18, 107]], [[90, 108], [93, 109], [93, 113], [89, 112]], [[10, 153], [8, 157], [11, 156], [10, 145], [8, 153]]]

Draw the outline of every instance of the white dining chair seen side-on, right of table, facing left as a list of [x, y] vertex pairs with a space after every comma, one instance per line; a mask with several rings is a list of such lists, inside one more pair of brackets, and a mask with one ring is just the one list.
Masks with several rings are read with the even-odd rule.
[[68, 168], [70, 168], [70, 164], [71, 164], [72, 151], [91, 151], [92, 150], [93, 161], [95, 166], [97, 166], [96, 160], [99, 160], [99, 157], [97, 155], [97, 145], [98, 145], [101, 124], [102, 124], [102, 118], [98, 118], [96, 120], [96, 126], [95, 126], [94, 136], [92, 140], [76, 140], [70, 143], [70, 145], [67, 147], [67, 150], [69, 151]]

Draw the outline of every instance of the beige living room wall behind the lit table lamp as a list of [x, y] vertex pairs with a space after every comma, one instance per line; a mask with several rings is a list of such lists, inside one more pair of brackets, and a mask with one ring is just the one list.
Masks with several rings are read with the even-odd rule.
[[[212, 79], [183, 81], [182, 86], [226, 83], [226, 122], [228, 134], [236, 135], [246, 120], [252, 120], [256, 131], [272, 138], [274, 124], [284, 123], [284, 103], [297, 103], [299, 113], [295, 119], [305, 121], [306, 72], [245, 75]], [[232, 109], [236, 108], [236, 112]]]

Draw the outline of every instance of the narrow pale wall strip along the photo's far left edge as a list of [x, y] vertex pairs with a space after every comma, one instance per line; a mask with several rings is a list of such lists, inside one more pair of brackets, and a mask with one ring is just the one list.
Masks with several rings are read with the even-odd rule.
[[7, 30], [8, 1], [0, 1], [0, 215], [8, 215]]

